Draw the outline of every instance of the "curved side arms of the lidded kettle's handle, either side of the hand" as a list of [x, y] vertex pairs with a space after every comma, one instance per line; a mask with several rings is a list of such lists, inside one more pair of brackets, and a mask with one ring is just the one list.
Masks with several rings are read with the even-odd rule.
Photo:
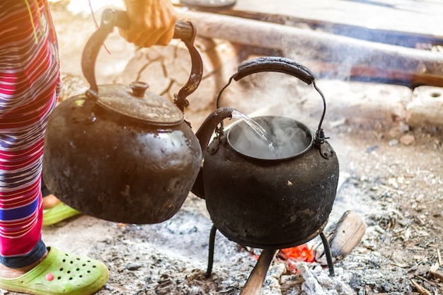
[[[127, 16], [126, 11], [119, 11], [115, 9], [105, 9], [101, 18], [100, 28], [96, 30], [84, 48], [83, 55], [81, 57], [81, 69], [88, 81], [90, 88], [86, 91], [86, 96], [93, 100], [98, 99], [98, 86], [95, 75], [95, 65], [98, 50], [103, 45], [108, 34], [111, 33], [114, 27], [128, 29], [130, 28], [130, 19]], [[178, 94], [175, 95], [174, 103], [183, 112], [184, 108], [188, 107], [189, 103], [186, 98], [197, 89], [202, 80], [203, 64], [202, 58], [194, 46], [194, 40], [196, 35], [195, 25], [191, 22], [177, 21], [174, 32], [174, 39], [182, 40], [190, 52], [192, 69], [188, 79]]]

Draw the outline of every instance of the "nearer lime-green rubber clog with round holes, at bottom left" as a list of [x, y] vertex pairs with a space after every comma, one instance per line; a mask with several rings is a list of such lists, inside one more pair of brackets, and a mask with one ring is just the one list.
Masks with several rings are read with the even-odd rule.
[[0, 277], [0, 288], [34, 295], [91, 295], [108, 281], [108, 268], [98, 260], [48, 247], [45, 260], [21, 277]]

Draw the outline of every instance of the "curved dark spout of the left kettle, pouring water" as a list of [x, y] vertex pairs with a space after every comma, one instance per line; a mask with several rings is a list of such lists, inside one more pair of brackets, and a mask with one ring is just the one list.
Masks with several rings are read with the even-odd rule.
[[[234, 110], [233, 108], [229, 107], [219, 108], [215, 110], [205, 119], [205, 121], [202, 123], [200, 128], [195, 133], [197, 139], [200, 141], [200, 147], [202, 148], [203, 158], [205, 157], [209, 140], [211, 139], [215, 128], [227, 117], [231, 118], [233, 110]], [[205, 199], [205, 188], [203, 186], [204, 180], [202, 172], [203, 172], [203, 166], [200, 168], [200, 171], [197, 175], [197, 179], [195, 180], [194, 185], [192, 185], [191, 192], [197, 195], [197, 197]]]

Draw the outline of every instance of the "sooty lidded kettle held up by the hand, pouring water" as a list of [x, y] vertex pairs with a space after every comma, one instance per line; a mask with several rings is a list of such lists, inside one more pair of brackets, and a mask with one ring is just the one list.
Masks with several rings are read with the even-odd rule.
[[[142, 82], [97, 86], [98, 50], [115, 25], [129, 27], [126, 13], [105, 11], [84, 49], [82, 67], [91, 88], [64, 100], [50, 115], [43, 179], [50, 192], [85, 214], [159, 223], [178, 212], [202, 162], [200, 141], [183, 117], [186, 97], [202, 77], [202, 60], [193, 45], [195, 28], [176, 24], [174, 37], [188, 47], [192, 69], [171, 103], [146, 91]], [[229, 108], [217, 110], [209, 116], [208, 128], [229, 115]]]

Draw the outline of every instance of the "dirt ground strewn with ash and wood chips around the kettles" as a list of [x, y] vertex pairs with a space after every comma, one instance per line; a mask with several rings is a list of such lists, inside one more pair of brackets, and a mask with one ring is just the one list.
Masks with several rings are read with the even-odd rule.
[[[65, 44], [76, 44], [78, 49], [83, 42], [77, 39], [82, 22], [70, 19], [70, 25], [77, 25], [76, 32], [61, 33], [68, 25], [61, 20], [67, 16], [57, 7], [53, 11], [54, 21], [59, 23], [59, 38]], [[88, 25], [83, 28], [83, 35], [93, 31]], [[71, 87], [67, 93], [75, 94], [84, 87], [84, 81], [76, 80], [81, 75], [78, 52], [74, 46], [63, 48], [62, 72], [70, 75], [65, 78]], [[119, 69], [131, 58], [128, 55], [134, 54], [131, 50], [128, 47], [126, 52], [130, 53], [121, 54], [121, 60], [118, 53], [114, 55]], [[66, 62], [68, 57], [71, 64]], [[326, 94], [334, 87], [330, 81], [318, 81], [319, 86], [322, 84], [326, 85]], [[409, 91], [401, 88], [396, 92], [398, 88], [387, 85], [358, 85], [381, 88], [385, 93]], [[297, 94], [305, 93], [302, 86], [297, 84], [296, 88]], [[323, 294], [418, 294], [412, 282], [430, 294], [443, 294], [442, 278], [429, 272], [436, 263], [443, 272], [442, 129], [410, 127], [402, 117], [396, 122], [374, 121], [363, 112], [353, 114], [362, 118], [357, 122], [352, 115], [340, 118], [345, 112], [335, 115], [334, 110], [340, 108], [346, 106], [332, 108], [323, 126], [340, 162], [339, 188], [326, 233], [347, 210], [362, 216], [367, 230], [350, 255], [335, 263], [335, 277], [329, 277], [327, 267], [317, 262], [304, 265], [321, 285]], [[192, 110], [187, 115], [192, 120]], [[318, 111], [305, 116], [302, 120], [315, 128]], [[212, 277], [205, 278], [211, 226], [205, 201], [190, 194], [178, 214], [161, 224], [117, 224], [80, 215], [43, 229], [42, 235], [47, 245], [105, 262], [110, 278], [99, 295], [239, 294], [255, 265], [253, 253], [260, 250], [243, 248], [218, 233]], [[318, 237], [310, 242], [315, 248], [321, 248], [320, 244]], [[310, 289], [308, 282], [306, 272], [293, 273], [284, 260], [275, 258], [261, 294], [321, 294]]]

